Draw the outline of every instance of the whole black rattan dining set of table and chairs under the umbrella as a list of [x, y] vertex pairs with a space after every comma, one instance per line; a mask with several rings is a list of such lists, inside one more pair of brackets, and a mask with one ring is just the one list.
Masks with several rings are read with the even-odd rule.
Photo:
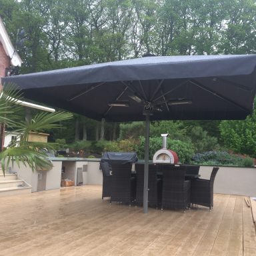
[[[101, 163], [103, 171], [102, 199], [127, 205], [143, 205], [144, 164]], [[213, 183], [218, 171], [213, 167], [211, 178], [199, 179], [199, 166], [149, 164], [149, 207], [163, 209], [186, 209], [191, 205], [213, 207]]]

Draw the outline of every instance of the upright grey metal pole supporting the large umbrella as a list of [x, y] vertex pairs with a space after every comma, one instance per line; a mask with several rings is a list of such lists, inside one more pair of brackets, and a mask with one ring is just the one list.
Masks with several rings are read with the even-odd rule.
[[147, 213], [148, 193], [149, 193], [149, 116], [145, 113], [145, 164], [144, 164], [144, 189], [143, 189], [143, 213]]

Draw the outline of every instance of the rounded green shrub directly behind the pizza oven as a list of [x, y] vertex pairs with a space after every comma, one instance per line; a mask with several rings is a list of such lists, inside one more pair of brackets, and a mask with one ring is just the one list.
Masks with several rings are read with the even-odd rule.
[[[135, 151], [139, 159], [144, 159], [144, 148], [145, 148], [145, 138], [140, 137], [141, 143], [135, 145]], [[161, 137], [151, 137], [149, 139], [149, 159], [153, 159], [155, 152], [162, 148]], [[167, 138], [167, 148], [175, 151], [179, 157], [179, 162], [189, 163], [191, 157], [194, 155], [193, 146], [191, 143], [184, 141], [178, 141], [174, 139]]]

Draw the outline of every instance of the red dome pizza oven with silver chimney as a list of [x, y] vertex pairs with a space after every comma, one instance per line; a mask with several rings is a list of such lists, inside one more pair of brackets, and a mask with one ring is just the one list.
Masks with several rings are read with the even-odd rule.
[[163, 137], [163, 148], [155, 152], [153, 163], [173, 163], [175, 165], [178, 163], [179, 158], [177, 154], [174, 151], [167, 149], [168, 135], [168, 133], [161, 134]]

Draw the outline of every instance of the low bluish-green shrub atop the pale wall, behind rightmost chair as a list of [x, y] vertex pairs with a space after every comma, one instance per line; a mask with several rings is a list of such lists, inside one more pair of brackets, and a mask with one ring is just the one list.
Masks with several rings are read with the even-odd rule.
[[207, 151], [193, 156], [193, 162], [201, 165], [241, 166], [242, 161], [242, 157], [227, 151]]

